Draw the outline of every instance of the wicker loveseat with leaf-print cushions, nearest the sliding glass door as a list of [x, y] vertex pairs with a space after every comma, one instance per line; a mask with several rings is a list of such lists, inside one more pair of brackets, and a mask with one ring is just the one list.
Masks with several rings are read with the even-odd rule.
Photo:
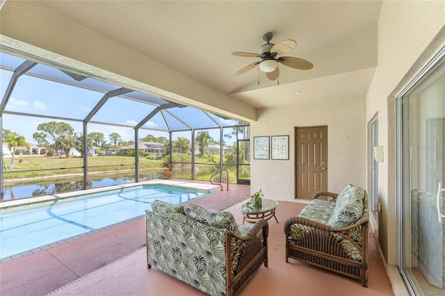
[[286, 262], [294, 258], [368, 286], [369, 213], [362, 188], [316, 192], [298, 216], [284, 222], [284, 233]]

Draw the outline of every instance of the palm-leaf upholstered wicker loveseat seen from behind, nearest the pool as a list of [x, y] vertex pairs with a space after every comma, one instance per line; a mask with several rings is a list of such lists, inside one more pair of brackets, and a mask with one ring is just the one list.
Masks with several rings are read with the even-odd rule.
[[236, 224], [232, 213], [156, 200], [145, 211], [147, 265], [210, 295], [236, 295], [268, 265], [268, 222]]

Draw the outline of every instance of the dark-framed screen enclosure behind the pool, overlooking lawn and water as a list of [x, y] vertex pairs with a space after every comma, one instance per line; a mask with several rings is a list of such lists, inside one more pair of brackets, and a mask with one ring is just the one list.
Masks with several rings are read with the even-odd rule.
[[245, 122], [9, 53], [0, 64], [1, 202], [163, 179], [169, 167], [250, 183]]

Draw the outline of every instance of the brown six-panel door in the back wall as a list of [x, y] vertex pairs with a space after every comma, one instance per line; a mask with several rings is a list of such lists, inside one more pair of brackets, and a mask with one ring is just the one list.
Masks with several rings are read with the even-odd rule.
[[327, 126], [296, 127], [296, 198], [327, 191]]

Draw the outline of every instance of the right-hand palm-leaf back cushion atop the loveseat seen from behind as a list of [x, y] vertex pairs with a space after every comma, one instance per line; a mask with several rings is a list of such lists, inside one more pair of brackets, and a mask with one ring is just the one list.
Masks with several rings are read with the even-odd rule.
[[197, 222], [213, 227], [225, 228], [241, 236], [241, 231], [238, 229], [234, 215], [230, 212], [211, 211], [195, 204], [186, 204], [184, 206], [184, 213], [187, 217], [191, 217]]

